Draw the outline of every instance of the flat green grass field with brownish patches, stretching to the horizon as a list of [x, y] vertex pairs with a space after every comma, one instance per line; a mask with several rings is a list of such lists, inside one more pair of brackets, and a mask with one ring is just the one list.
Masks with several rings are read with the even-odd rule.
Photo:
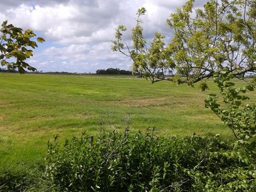
[[0, 74], [0, 85], [0, 168], [40, 161], [54, 134], [96, 134], [102, 122], [123, 130], [127, 115], [131, 131], [156, 127], [164, 136], [230, 136], [204, 107], [205, 95], [218, 92], [211, 82], [201, 92], [198, 84], [151, 84], [131, 76]]

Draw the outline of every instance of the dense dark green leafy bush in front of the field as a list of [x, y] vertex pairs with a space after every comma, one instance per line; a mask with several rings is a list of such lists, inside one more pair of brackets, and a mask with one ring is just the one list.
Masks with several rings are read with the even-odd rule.
[[214, 138], [83, 135], [49, 143], [45, 178], [61, 191], [255, 191], [256, 165]]

